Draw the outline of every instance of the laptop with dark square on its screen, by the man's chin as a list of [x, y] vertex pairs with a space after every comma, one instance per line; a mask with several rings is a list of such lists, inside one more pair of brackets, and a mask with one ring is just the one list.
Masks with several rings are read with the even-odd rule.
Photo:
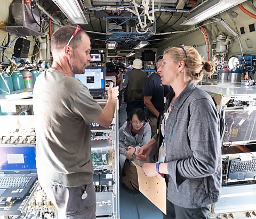
[[97, 97], [105, 97], [105, 67], [88, 67], [84, 74], [75, 74], [90, 91], [90, 94]]

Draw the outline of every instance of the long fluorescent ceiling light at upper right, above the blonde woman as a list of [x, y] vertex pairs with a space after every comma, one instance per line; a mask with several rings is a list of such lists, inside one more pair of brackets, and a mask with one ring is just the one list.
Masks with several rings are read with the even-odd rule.
[[193, 26], [197, 23], [205, 21], [213, 16], [230, 9], [246, 0], [208, 0], [205, 1], [195, 9], [192, 9], [187, 19], [180, 25]]

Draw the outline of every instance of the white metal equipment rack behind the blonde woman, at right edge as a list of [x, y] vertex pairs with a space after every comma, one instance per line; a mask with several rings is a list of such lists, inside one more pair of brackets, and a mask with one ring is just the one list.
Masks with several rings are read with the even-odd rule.
[[256, 173], [256, 167], [251, 170], [249, 164], [243, 174], [231, 177], [233, 161], [252, 163], [256, 158], [256, 87], [218, 83], [199, 88], [210, 94], [227, 123], [222, 145], [221, 197], [211, 206], [209, 218], [256, 218], [256, 174], [250, 176]]

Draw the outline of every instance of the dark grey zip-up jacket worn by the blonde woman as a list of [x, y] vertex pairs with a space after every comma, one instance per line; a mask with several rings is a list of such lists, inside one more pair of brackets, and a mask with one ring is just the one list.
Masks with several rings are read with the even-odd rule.
[[167, 199], [180, 207], [199, 208], [220, 198], [218, 113], [210, 95], [193, 81], [170, 103], [173, 95], [171, 91], [165, 106], [172, 106], [165, 127]]

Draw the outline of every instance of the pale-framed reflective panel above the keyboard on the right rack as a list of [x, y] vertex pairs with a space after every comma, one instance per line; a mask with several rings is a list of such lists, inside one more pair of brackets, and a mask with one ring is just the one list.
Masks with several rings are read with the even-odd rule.
[[239, 145], [256, 141], [256, 110], [223, 110], [227, 123], [224, 143]]

